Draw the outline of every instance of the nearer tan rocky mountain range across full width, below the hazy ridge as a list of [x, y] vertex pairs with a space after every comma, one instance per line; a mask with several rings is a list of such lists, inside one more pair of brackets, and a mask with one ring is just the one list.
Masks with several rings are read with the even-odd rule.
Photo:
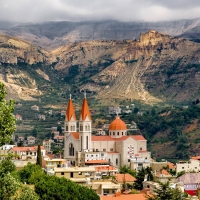
[[75, 42], [53, 51], [10, 36], [0, 42], [1, 81], [18, 98], [38, 98], [49, 90], [87, 90], [106, 101], [146, 103], [200, 95], [200, 44], [155, 30], [139, 40]]

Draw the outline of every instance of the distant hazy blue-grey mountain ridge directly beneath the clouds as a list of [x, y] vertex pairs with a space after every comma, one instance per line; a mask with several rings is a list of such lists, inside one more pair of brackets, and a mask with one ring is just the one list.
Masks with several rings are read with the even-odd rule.
[[89, 40], [134, 40], [149, 29], [199, 41], [200, 18], [164, 22], [45, 22], [15, 24], [0, 22], [0, 33], [27, 40], [52, 50], [67, 43]]

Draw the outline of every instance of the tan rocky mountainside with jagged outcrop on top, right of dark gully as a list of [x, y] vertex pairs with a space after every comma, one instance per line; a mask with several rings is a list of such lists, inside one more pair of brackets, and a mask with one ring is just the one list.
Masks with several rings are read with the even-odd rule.
[[150, 30], [138, 41], [81, 42], [52, 55], [60, 60], [56, 70], [76, 71], [80, 89], [99, 98], [183, 101], [199, 95], [199, 49], [198, 43]]

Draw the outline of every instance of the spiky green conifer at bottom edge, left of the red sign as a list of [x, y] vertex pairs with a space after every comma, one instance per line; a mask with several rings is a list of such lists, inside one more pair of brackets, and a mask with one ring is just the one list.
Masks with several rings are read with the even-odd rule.
[[154, 189], [154, 195], [147, 195], [147, 200], [180, 200], [183, 193], [179, 188], [170, 188], [169, 181], [167, 183], [159, 183], [159, 187]]

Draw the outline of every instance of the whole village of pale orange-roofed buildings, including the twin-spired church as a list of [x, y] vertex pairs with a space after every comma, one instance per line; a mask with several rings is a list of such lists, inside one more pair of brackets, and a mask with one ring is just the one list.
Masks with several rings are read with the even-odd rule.
[[[146, 195], [153, 195], [155, 188], [160, 187], [158, 182], [168, 181], [170, 187], [186, 191], [190, 199], [195, 199], [200, 182], [200, 156], [192, 156], [187, 161], [180, 160], [177, 163], [152, 159], [151, 152], [147, 150], [147, 140], [137, 124], [125, 124], [120, 119], [122, 112], [132, 112], [134, 108], [134, 104], [123, 110], [120, 107], [109, 107], [108, 115], [113, 114], [115, 119], [110, 124], [93, 127], [86, 94], [80, 116], [75, 114], [70, 95], [66, 111], [61, 111], [61, 115], [64, 115], [62, 133], [57, 127], [52, 127], [51, 137], [42, 142], [44, 172], [91, 187], [102, 200], [113, 197], [119, 200], [145, 199]], [[35, 105], [31, 109], [38, 111], [39, 107]], [[142, 113], [138, 112], [138, 115]], [[20, 114], [16, 114], [15, 118], [23, 120]], [[46, 119], [43, 117], [39, 120]], [[135, 134], [128, 134], [129, 129], [134, 130]], [[53, 152], [52, 145], [57, 146], [60, 151]], [[13, 163], [21, 169], [29, 162], [36, 163], [37, 150], [37, 137], [18, 136], [15, 144], [1, 147], [0, 157], [3, 159], [11, 153], [14, 156]], [[135, 189], [137, 174], [143, 169], [150, 169], [153, 178], [149, 179], [147, 174], [144, 175], [140, 182], [141, 188]], [[130, 172], [135, 172], [135, 175]]]

